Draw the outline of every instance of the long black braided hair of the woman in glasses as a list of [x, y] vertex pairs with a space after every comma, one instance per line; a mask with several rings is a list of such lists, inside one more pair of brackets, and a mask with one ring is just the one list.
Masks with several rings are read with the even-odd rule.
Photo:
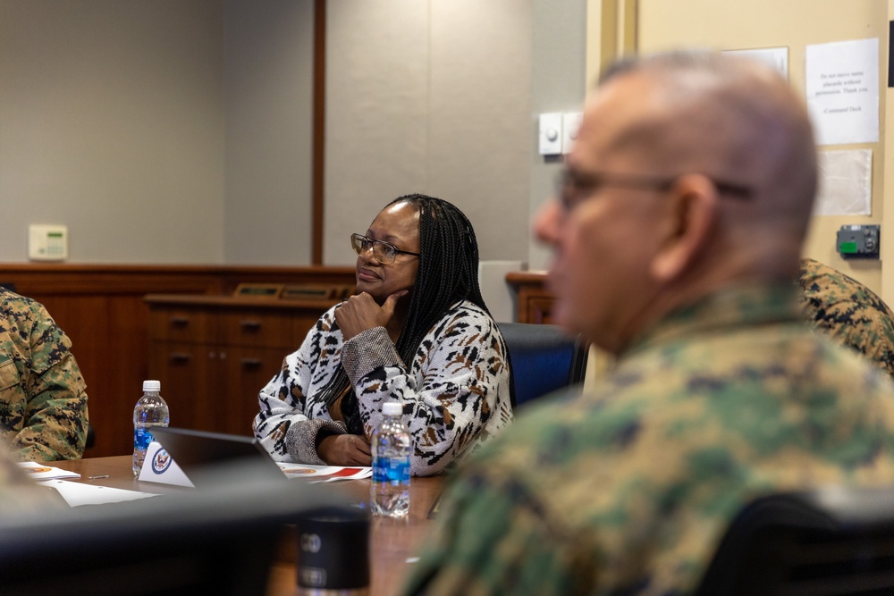
[[[401, 202], [419, 212], [419, 268], [396, 345], [401, 360], [411, 363], [426, 333], [451, 305], [468, 300], [488, 311], [478, 287], [478, 242], [466, 215], [443, 199], [420, 194], [397, 197], [388, 206]], [[327, 407], [344, 396], [341, 409], [348, 432], [363, 434], [357, 396], [342, 366], [321, 391]]]

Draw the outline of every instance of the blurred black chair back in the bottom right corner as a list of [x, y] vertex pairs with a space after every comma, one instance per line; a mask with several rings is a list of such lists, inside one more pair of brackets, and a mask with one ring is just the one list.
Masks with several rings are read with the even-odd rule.
[[894, 593], [894, 487], [756, 499], [733, 520], [696, 596]]

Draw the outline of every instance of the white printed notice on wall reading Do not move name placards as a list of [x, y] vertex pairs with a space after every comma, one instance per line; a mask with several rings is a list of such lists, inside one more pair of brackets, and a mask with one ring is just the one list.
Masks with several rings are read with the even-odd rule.
[[878, 38], [807, 46], [805, 93], [818, 145], [878, 142]]

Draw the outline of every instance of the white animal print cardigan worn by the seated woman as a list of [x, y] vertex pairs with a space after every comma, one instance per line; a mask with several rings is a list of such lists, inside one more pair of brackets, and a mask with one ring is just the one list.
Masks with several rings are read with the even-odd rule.
[[382, 420], [384, 401], [403, 402], [403, 421], [413, 437], [414, 475], [437, 474], [510, 423], [506, 344], [491, 316], [478, 306], [468, 301], [451, 306], [426, 334], [409, 366], [384, 327], [343, 341], [334, 311], [333, 306], [316, 322], [260, 392], [255, 436], [277, 461], [323, 465], [316, 454], [317, 432], [347, 432], [317, 399], [339, 366], [358, 396], [367, 436]]

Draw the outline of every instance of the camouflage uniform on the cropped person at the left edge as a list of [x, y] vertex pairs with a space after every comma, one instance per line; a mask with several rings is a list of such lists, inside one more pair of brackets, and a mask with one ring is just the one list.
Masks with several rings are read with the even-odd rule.
[[22, 460], [84, 452], [87, 393], [71, 348], [46, 308], [0, 289], [0, 432]]

